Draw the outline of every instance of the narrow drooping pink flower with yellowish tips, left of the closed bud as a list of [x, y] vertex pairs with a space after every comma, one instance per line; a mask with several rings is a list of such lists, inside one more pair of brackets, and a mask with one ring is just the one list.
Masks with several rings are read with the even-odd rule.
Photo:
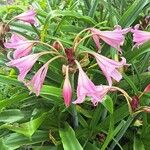
[[30, 93], [35, 93], [36, 96], [40, 95], [41, 88], [43, 86], [47, 71], [48, 71], [48, 64], [44, 64], [37, 73], [33, 76], [31, 81], [25, 83], [25, 85], [29, 88], [31, 91]]

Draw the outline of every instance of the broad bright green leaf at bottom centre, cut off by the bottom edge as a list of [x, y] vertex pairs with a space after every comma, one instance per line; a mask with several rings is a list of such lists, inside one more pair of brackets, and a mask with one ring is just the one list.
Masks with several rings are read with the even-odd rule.
[[64, 128], [59, 129], [59, 134], [64, 150], [83, 150], [73, 129], [68, 124], [65, 124]]

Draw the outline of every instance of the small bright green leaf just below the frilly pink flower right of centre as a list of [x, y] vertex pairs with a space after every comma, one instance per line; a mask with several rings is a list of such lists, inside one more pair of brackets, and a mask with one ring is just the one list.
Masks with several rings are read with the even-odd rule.
[[113, 101], [111, 99], [110, 96], [105, 96], [105, 98], [103, 99], [102, 104], [104, 105], [104, 107], [111, 113], [113, 114]]

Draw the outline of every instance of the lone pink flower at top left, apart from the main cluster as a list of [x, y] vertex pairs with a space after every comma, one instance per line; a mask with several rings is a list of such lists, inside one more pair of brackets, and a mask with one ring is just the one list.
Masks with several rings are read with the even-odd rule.
[[35, 15], [36, 15], [36, 11], [32, 8], [24, 13], [21, 13], [18, 16], [15, 16], [15, 19], [24, 21], [24, 22], [28, 22], [30, 24], [37, 24], [37, 20], [35, 19]]

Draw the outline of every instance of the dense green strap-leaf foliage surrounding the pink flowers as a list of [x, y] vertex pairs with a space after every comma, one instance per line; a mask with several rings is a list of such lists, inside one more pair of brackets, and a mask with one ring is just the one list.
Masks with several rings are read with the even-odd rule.
[[[5, 4], [0, 6], [3, 22], [8, 22], [29, 5], [37, 11], [37, 27], [12, 22], [10, 32], [51, 45], [59, 40], [65, 48], [71, 48], [77, 33], [87, 27], [101, 30], [111, 30], [116, 24], [133, 27], [148, 14], [146, 12], [149, 12], [150, 6], [149, 0], [16, 0], [11, 5], [1, 3]], [[6, 40], [10, 32], [6, 34]], [[121, 82], [115, 83], [131, 97], [139, 96], [150, 83], [150, 43], [132, 50], [133, 45], [129, 33], [122, 47], [129, 66], [124, 68]], [[34, 47], [34, 52], [45, 50], [49, 50], [45, 45]], [[96, 50], [91, 38], [79, 45], [78, 52], [82, 50]], [[40, 96], [36, 97], [33, 93], [29, 94], [24, 84], [17, 80], [18, 71], [5, 65], [8, 59], [1, 47], [0, 51], [0, 150], [149, 149], [149, 114], [129, 114], [125, 98], [119, 92], [108, 94], [97, 106], [86, 98], [85, 103], [76, 105], [74, 110], [77, 114], [73, 114], [71, 107], [65, 107], [62, 97], [63, 60], [50, 64]], [[116, 52], [102, 43], [102, 54], [111, 57]], [[27, 80], [52, 57], [41, 57], [27, 75]], [[92, 57], [84, 63], [87, 74], [95, 84], [105, 84], [106, 80], [91, 60]], [[90, 68], [89, 65], [93, 66]], [[76, 78], [75, 74], [75, 89]], [[149, 106], [149, 99], [149, 93], [143, 94], [140, 106]], [[77, 128], [75, 120], [78, 121]]]

